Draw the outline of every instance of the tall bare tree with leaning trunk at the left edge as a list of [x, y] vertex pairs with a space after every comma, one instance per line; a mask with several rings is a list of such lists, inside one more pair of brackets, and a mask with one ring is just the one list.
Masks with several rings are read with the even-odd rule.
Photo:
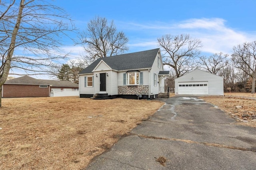
[[2, 1], [0, 87], [10, 70], [20, 69], [25, 75], [48, 74], [54, 63], [66, 57], [62, 55], [60, 39], [67, 36], [67, 31], [73, 30], [72, 21], [64, 10], [48, 1]]

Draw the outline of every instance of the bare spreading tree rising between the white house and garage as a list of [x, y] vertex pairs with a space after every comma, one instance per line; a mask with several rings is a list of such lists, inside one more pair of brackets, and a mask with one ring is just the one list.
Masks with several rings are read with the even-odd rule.
[[167, 34], [157, 40], [164, 49], [163, 64], [174, 68], [177, 78], [196, 68], [196, 57], [202, 47], [199, 39], [192, 39], [188, 34]]

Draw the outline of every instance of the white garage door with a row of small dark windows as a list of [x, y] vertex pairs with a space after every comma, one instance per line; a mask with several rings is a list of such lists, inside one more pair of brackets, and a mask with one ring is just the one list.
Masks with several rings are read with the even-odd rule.
[[179, 82], [178, 94], [208, 95], [208, 82]]

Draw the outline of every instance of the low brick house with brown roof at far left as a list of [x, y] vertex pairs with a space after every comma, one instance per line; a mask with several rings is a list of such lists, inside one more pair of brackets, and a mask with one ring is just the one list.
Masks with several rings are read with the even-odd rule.
[[41, 80], [22, 76], [7, 80], [2, 86], [2, 98], [48, 97], [51, 90], [78, 89], [78, 84], [60, 80]]

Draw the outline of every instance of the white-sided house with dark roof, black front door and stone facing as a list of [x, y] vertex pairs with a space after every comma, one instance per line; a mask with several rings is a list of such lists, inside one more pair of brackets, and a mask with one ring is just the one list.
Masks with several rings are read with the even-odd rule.
[[79, 73], [80, 97], [153, 99], [168, 75], [160, 49], [104, 57]]

